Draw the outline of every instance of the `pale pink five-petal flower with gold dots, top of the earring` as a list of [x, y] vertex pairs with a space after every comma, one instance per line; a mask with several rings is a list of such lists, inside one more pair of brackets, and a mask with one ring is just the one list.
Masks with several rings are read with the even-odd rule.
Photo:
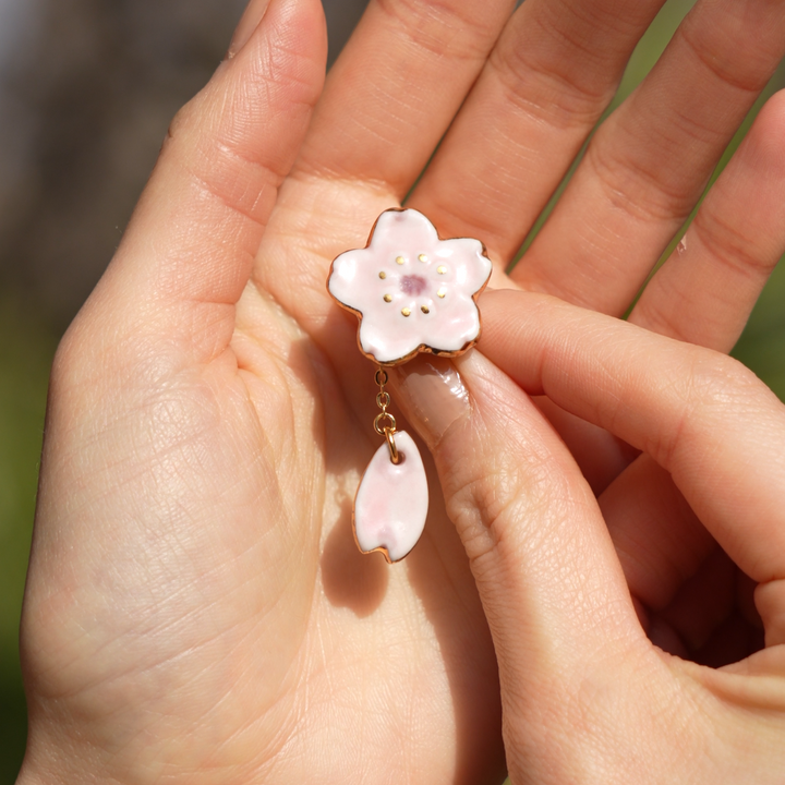
[[479, 240], [439, 240], [422, 213], [387, 210], [367, 247], [335, 259], [328, 288], [360, 315], [363, 352], [396, 363], [418, 351], [468, 349], [480, 335], [474, 295], [491, 269]]

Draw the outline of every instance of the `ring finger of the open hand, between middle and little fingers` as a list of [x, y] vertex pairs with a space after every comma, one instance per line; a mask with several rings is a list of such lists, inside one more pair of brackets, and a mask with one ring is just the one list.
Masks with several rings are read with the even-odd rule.
[[785, 49], [785, 5], [703, 0], [597, 131], [514, 278], [620, 314], [697, 203]]

